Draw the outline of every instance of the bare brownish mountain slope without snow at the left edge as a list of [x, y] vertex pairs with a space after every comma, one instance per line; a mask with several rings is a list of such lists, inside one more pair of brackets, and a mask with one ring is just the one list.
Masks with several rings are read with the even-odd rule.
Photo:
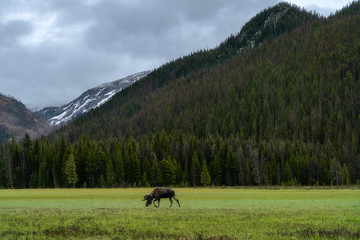
[[28, 133], [35, 138], [49, 133], [51, 127], [42, 118], [29, 111], [14, 98], [0, 94], [0, 143], [4, 140], [24, 137]]

